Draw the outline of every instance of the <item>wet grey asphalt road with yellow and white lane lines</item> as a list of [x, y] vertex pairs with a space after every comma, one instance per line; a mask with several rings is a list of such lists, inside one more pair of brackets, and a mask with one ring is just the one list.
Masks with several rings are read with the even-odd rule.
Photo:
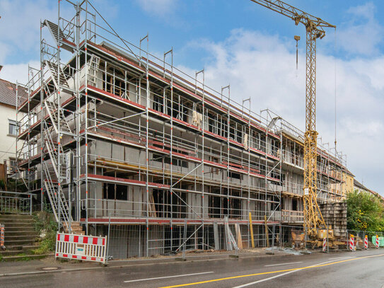
[[383, 288], [384, 250], [198, 260], [9, 276], [0, 277], [0, 287]]

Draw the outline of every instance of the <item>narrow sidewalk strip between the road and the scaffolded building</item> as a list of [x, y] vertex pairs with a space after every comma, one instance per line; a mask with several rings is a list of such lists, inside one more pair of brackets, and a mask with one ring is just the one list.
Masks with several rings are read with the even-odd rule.
[[[240, 251], [236, 258], [269, 258], [277, 257], [284, 258], [290, 255], [297, 255], [297, 253], [287, 253], [284, 250], [274, 250], [274, 255], [269, 255], [270, 250], [267, 249], [255, 249]], [[187, 261], [210, 261], [210, 260], [223, 260], [231, 258], [235, 255], [233, 253], [225, 252], [204, 252], [204, 253], [187, 253]], [[78, 260], [55, 260], [54, 256], [29, 261], [15, 261], [15, 262], [1, 262], [0, 263], [0, 277], [6, 276], [18, 276], [18, 275], [34, 275], [53, 272], [64, 271], [81, 271], [81, 270], [98, 270], [98, 269], [110, 269], [113, 267], [129, 267], [136, 265], [151, 265], [151, 264], [165, 264], [180, 262], [181, 255], [172, 256], [158, 256], [148, 258], [133, 258], [127, 260], [110, 260], [107, 267], [103, 267], [100, 263], [93, 262], [79, 262]]]

